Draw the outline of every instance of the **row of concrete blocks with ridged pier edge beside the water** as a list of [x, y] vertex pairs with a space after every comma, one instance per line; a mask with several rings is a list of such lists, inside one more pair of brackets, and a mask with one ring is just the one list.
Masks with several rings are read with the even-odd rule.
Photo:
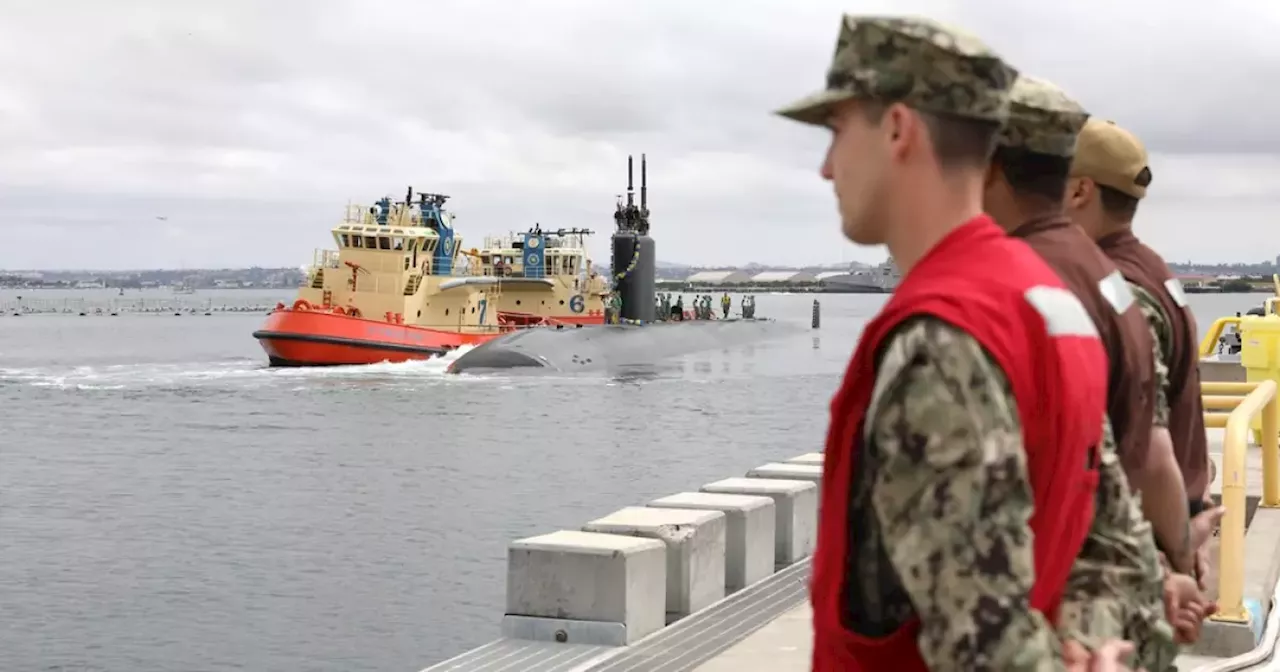
[[428, 669], [705, 663], [808, 595], [820, 453], [795, 460], [513, 541], [502, 639]]

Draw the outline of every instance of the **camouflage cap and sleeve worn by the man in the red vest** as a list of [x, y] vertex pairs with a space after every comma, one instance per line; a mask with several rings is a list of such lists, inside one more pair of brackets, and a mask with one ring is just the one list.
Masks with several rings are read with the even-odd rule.
[[[932, 20], [846, 15], [826, 90], [778, 114], [827, 125], [837, 105], [872, 100], [1004, 123], [1016, 76]], [[931, 669], [1061, 669], [1057, 634], [1029, 605], [1034, 500], [1004, 371], [963, 330], [910, 319], [878, 356], [861, 431], [842, 621], [883, 636], [918, 617]]]

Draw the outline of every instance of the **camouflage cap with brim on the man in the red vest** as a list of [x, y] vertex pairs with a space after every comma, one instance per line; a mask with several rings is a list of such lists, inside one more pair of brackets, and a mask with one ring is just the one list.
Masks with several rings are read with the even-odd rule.
[[932, 19], [845, 14], [827, 88], [778, 114], [823, 125], [846, 100], [1004, 122], [1018, 70], [977, 37]]

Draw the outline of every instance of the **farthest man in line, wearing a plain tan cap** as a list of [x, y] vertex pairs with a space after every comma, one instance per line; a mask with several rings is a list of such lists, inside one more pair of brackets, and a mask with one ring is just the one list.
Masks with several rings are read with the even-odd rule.
[[[1181, 467], [1192, 516], [1194, 571], [1203, 589], [1208, 562], [1204, 541], [1225, 509], [1215, 506], [1208, 494], [1210, 460], [1201, 407], [1196, 316], [1165, 260], [1133, 233], [1133, 218], [1151, 178], [1147, 150], [1133, 133], [1112, 122], [1089, 119], [1080, 131], [1071, 163], [1068, 212], [1119, 266], [1156, 340], [1155, 420], [1167, 428]], [[1179, 568], [1174, 557], [1169, 562]]]

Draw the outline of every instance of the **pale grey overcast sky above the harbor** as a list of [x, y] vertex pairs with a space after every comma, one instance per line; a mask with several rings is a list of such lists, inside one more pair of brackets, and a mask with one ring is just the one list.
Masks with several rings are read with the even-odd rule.
[[1138, 133], [1170, 260], [1280, 255], [1280, 3], [0, 0], [0, 268], [301, 265], [408, 184], [471, 243], [589, 227], [603, 260], [628, 152], [662, 260], [878, 261], [827, 133], [771, 114], [850, 9], [961, 24]]

